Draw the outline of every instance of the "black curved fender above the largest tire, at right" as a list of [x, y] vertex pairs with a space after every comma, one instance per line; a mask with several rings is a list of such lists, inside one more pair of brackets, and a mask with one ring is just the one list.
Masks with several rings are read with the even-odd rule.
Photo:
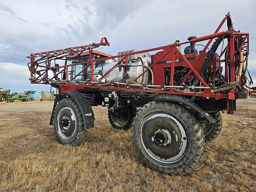
[[153, 101], [172, 101], [172, 102], [184, 104], [184, 105], [186, 105], [190, 108], [195, 109], [202, 116], [204, 116], [206, 119], [208, 119], [211, 123], [216, 122], [216, 119], [214, 119], [207, 112], [205, 112], [203, 109], [198, 107], [197, 104], [195, 104], [194, 102], [192, 102], [191, 100], [188, 100], [187, 98], [185, 98], [183, 96], [170, 95], [170, 94], [160, 94], [160, 95], [156, 96]]

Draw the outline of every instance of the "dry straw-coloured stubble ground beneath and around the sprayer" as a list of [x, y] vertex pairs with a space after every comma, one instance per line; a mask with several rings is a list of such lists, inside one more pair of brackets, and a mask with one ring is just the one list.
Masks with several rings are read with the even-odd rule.
[[141, 164], [130, 131], [115, 130], [94, 107], [95, 128], [78, 147], [58, 144], [49, 125], [53, 102], [0, 103], [0, 192], [256, 192], [256, 99], [223, 115], [220, 136], [200, 164], [170, 176]]

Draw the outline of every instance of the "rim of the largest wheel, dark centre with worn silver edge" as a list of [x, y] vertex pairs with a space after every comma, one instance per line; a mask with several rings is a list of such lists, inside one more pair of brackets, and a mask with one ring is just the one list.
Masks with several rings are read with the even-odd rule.
[[153, 160], [173, 164], [184, 156], [188, 136], [180, 122], [167, 113], [153, 113], [140, 123], [140, 142]]

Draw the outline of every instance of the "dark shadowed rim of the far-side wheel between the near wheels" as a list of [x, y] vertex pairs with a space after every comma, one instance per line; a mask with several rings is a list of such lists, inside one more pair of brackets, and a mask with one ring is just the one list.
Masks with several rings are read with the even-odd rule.
[[111, 118], [117, 126], [124, 126], [128, 123], [130, 113], [128, 108], [117, 108], [111, 112]]

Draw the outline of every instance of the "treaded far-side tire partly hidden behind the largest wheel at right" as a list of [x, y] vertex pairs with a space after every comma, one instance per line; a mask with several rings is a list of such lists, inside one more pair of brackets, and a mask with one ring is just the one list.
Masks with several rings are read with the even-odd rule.
[[222, 129], [222, 118], [220, 112], [212, 112], [210, 115], [217, 120], [214, 124], [210, 124], [208, 120], [200, 121], [201, 127], [204, 130], [205, 142], [216, 139]]

